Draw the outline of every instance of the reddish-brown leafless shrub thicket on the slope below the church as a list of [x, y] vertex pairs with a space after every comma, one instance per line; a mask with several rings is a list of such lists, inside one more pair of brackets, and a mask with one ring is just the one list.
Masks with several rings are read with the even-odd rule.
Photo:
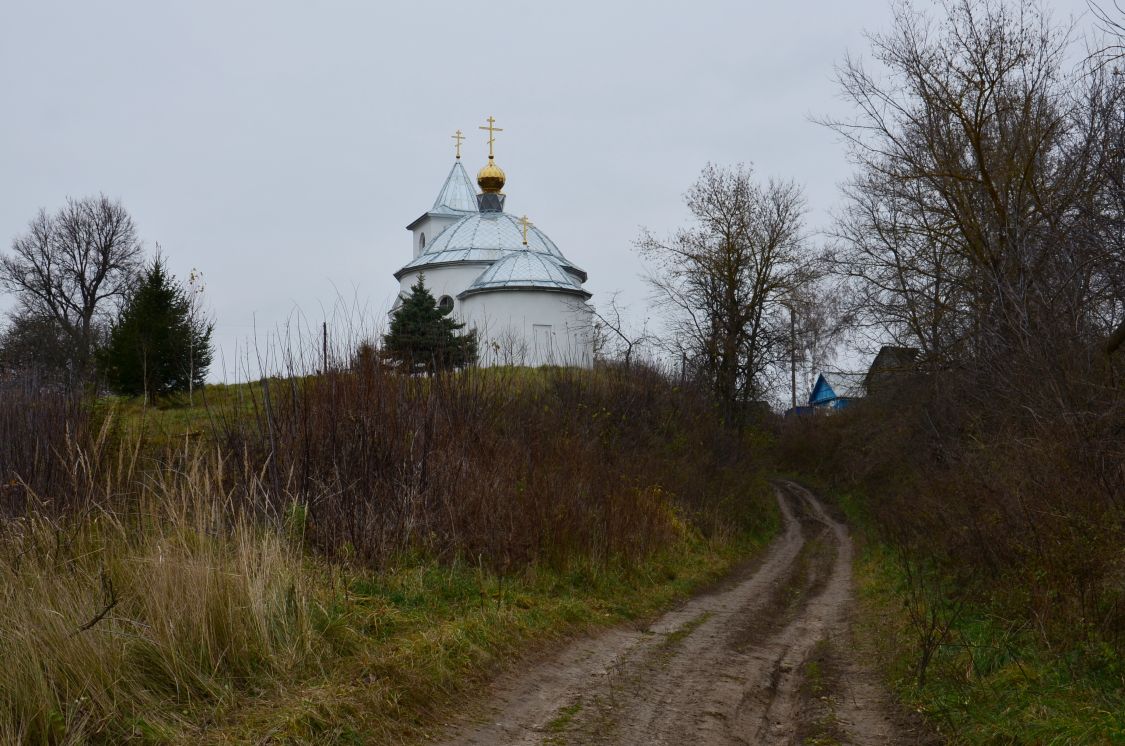
[[741, 435], [650, 369], [410, 377], [369, 361], [260, 394], [255, 416], [224, 421], [224, 446], [248, 488], [307, 505], [330, 554], [628, 559], [685, 518], [714, 531], [771, 514]]

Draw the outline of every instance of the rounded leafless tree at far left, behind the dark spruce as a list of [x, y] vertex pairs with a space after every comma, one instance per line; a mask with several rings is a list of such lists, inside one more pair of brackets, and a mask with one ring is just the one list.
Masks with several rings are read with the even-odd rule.
[[107, 303], [123, 298], [140, 268], [133, 218], [105, 195], [68, 199], [45, 209], [0, 258], [0, 288], [16, 294], [19, 313], [51, 320], [69, 340], [74, 376], [90, 370]]

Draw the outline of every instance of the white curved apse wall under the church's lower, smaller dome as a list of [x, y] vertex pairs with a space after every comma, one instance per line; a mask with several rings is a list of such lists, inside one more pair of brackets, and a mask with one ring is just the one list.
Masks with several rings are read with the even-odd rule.
[[593, 365], [590, 307], [578, 296], [500, 290], [465, 298], [461, 317], [477, 330], [482, 366]]

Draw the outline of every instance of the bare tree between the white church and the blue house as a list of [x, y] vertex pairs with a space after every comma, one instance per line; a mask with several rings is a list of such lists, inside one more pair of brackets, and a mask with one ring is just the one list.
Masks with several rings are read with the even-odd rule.
[[802, 234], [804, 197], [793, 182], [758, 185], [744, 165], [708, 164], [686, 195], [695, 224], [637, 241], [648, 282], [684, 359], [727, 404], [766, 394], [788, 360], [784, 302], [814, 277]]

